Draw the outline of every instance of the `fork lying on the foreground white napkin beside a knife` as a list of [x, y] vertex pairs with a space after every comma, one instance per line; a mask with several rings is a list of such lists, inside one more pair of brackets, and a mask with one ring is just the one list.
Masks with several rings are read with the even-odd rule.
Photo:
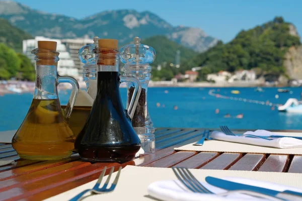
[[[192, 192], [198, 192], [198, 193], [207, 193], [207, 194], [215, 194], [212, 191], [208, 190], [206, 187], [204, 187], [197, 179], [196, 177], [190, 172], [189, 169], [183, 168], [183, 167], [173, 167], [172, 168], [174, 174], [178, 178], [180, 182], [182, 182], [189, 190]], [[266, 199], [271, 199], [271, 200], [284, 200], [280, 199], [274, 196], [262, 194], [259, 192], [254, 192], [250, 190], [229, 190], [224, 193], [217, 193], [216, 195], [219, 196], [226, 196], [230, 195], [232, 193], [244, 193], [248, 194], [251, 196], [257, 196], [257, 197], [262, 197]]]

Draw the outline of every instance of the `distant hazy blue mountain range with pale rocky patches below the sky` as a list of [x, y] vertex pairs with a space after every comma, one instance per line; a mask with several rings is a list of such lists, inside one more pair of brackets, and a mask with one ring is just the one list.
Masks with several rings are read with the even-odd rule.
[[50, 38], [116, 38], [120, 44], [133, 37], [148, 38], [165, 35], [170, 40], [197, 52], [203, 52], [217, 43], [198, 28], [174, 27], [159, 16], [135, 10], [105, 11], [84, 19], [50, 14], [31, 9], [13, 1], [0, 1], [0, 18], [33, 36]]

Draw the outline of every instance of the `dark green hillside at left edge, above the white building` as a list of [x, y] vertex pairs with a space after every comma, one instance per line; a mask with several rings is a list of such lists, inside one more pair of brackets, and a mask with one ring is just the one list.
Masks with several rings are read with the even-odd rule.
[[22, 41], [33, 38], [29, 33], [12, 26], [7, 20], [0, 19], [0, 43], [22, 52]]

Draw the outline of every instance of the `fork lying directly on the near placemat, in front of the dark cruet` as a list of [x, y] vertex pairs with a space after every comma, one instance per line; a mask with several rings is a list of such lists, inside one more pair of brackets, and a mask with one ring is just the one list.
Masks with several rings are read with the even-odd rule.
[[[74, 197], [72, 197], [71, 199], [69, 199], [69, 201], [78, 201], [78, 200], [82, 200], [84, 199], [85, 197], [82, 197], [85, 193], [87, 192], [93, 192], [93, 193], [96, 193], [96, 194], [101, 194], [103, 192], [111, 192], [114, 190], [116, 184], [117, 184], [117, 181], [118, 181], [118, 178], [119, 178], [119, 175], [121, 173], [121, 169], [122, 167], [119, 167], [118, 169], [118, 172], [117, 172], [117, 175], [113, 181], [113, 183], [111, 184], [110, 188], [107, 188], [108, 184], [109, 184], [109, 181], [110, 181], [110, 178], [111, 178], [111, 175], [113, 173], [113, 170], [114, 170], [114, 167], [111, 168], [110, 170], [110, 173], [108, 175], [108, 178], [106, 180], [106, 182], [104, 183], [104, 185], [102, 187], [100, 187], [100, 184], [102, 182], [102, 179], [105, 175], [105, 172], [106, 172], [106, 169], [107, 167], [105, 166], [104, 167], [104, 170], [102, 171], [101, 175], [99, 176], [99, 179], [97, 181], [97, 183], [95, 184], [95, 186], [93, 186], [92, 189], [86, 189], [82, 192], [80, 192], [79, 194], [75, 195]], [[88, 195], [89, 196], [89, 195]]]

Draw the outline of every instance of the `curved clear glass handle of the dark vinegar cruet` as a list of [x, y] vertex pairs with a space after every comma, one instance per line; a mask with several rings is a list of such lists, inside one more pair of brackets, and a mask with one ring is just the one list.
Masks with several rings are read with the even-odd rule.
[[131, 75], [120, 75], [120, 82], [131, 82], [134, 85], [134, 91], [133, 91], [130, 103], [129, 103], [129, 105], [127, 104], [128, 115], [129, 115], [130, 119], [132, 119], [136, 106], [137, 106], [138, 98], [140, 95], [141, 85], [140, 85], [140, 82], [138, 81], [138, 79], [136, 79], [135, 77], [133, 77]]

